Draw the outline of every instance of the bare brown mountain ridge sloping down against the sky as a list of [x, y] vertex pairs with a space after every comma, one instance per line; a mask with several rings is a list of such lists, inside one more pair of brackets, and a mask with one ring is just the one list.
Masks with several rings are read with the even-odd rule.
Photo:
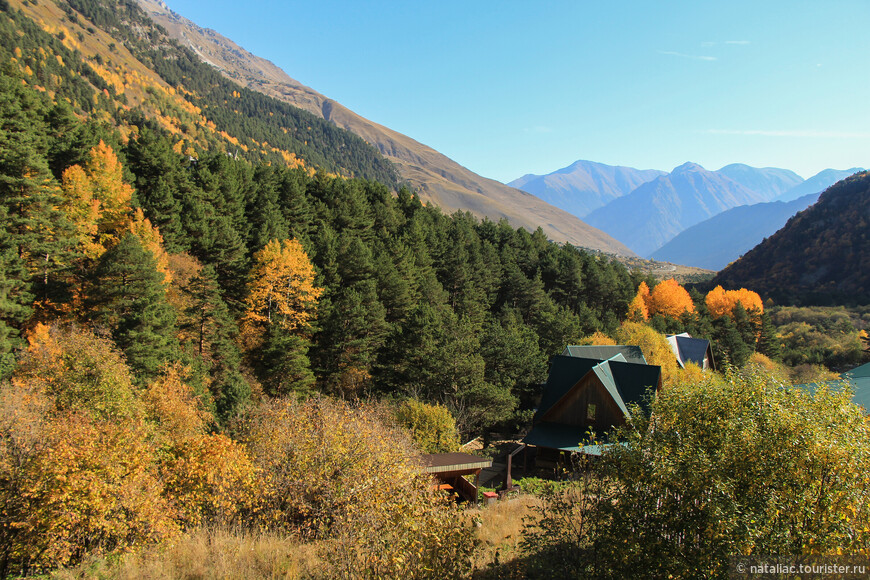
[[434, 149], [357, 115], [215, 31], [201, 28], [173, 13], [165, 3], [159, 0], [137, 1], [170, 35], [227, 78], [305, 109], [374, 145], [396, 166], [401, 178], [418, 192], [422, 200], [448, 212], [466, 210], [496, 221], [506, 218], [515, 227], [534, 230], [540, 226], [555, 241], [632, 255], [625, 245], [576, 216], [533, 195], [481, 177]]

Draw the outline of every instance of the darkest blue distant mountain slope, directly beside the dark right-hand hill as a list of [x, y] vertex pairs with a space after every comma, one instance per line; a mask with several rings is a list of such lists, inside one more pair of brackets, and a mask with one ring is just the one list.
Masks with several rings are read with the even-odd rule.
[[776, 233], [794, 214], [814, 204], [819, 195], [811, 193], [788, 203], [771, 201], [731, 208], [680, 232], [651, 258], [721, 270]]

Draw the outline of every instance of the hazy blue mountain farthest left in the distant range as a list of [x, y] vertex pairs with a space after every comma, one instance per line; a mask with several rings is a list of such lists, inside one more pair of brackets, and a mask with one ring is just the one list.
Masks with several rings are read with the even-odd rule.
[[524, 175], [508, 183], [580, 218], [627, 195], [664, 171], [576, 161], [547, 175]]

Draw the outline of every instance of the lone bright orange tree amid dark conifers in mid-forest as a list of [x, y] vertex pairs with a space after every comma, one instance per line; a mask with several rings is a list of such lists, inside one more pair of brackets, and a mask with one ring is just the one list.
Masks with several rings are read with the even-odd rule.
[[271, 240], [254, 254], [244, 320], [303, 329], [314, 317], [323, 288], [314, 285], [314, 266], [297, 240]]

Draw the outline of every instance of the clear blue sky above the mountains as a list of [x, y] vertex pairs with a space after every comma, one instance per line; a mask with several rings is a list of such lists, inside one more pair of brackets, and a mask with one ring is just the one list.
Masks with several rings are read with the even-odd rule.
[[166, 0], [493, 179], [870, 166], [870, 0]]

